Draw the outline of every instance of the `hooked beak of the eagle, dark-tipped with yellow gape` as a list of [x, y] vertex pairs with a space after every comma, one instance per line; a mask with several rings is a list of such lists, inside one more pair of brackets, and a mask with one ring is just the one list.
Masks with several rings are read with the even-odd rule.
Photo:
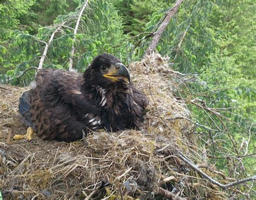
[[127, 83], [130, 83], [130, 73], [128, 69], [120, 62], [112, 65], [109, 72], [103, 76], [114, 82], [123, 80]]

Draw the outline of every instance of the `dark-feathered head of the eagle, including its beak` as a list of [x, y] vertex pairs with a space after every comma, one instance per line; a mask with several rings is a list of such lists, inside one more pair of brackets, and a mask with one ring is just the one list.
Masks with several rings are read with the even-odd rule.
[[85, 84], [106, 88], [110, 85], [130, 83], [130, 74], [123, 63], [111, 54], [101, 54], [84, 73]]

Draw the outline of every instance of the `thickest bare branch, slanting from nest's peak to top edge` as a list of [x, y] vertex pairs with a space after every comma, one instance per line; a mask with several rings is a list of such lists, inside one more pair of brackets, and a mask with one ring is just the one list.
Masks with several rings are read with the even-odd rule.
[[172, 7], [172, 9], [170, 9], [167, 13], [166, 16], [163, 20], [163, 22], [161, 23], [161, 25], [159, 26], [158, 30], [154, 33], [153, 39], [150, 42], [149, 47], [146, 49], [144, 58], [146, 55], [150, 55], [154, 49], [156, 49], [158, 42], [160, 40], [161, 35], [163, 34], [166, 26], [169, 24], [171, 18], [173, 17], [173, 15], [177, 12], [180, 4], [183, 2], [184, 0], [177, 0], [174, 4], [174, 6]]

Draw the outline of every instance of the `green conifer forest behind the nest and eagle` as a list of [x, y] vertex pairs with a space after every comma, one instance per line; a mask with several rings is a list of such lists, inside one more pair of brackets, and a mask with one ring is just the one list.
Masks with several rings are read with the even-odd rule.
[[[0, 84], [24, 87], [35, 77], [45, 45], [57, 27], [44, 68], [83, 72], [100, 53], [126, 65], [143, 58], [153, 33], [174, 1], [89, 1], [74, 34], [84, 1], [2, 0], [0, 2]], [[226, 173], [255, 174], [255, 1], [184, 1], [157, 46], [169, 66], [197, 80], [181, 85], [196, 122], [200, 145]], [[24, 73], [25, 72], [25, 73]], [[242, 165], [240, 165], [242, 161]], [[233, 164], [237, 165], [233, 165]], [[235, 173], [237, 169], [233, 170]]]

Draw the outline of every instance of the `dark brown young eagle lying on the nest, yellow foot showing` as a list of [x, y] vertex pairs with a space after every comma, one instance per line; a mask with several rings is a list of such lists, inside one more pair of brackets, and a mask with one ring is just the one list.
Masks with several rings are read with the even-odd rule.
[[19, 113], [42, 139], [75, 141], [83, 132], [138, 128], [148, 100], [130, 82], [130, 74], [111, 54], [97, 56], [84, 74], [63, 69], [41, 69], [36, 85], [19, 98]]

